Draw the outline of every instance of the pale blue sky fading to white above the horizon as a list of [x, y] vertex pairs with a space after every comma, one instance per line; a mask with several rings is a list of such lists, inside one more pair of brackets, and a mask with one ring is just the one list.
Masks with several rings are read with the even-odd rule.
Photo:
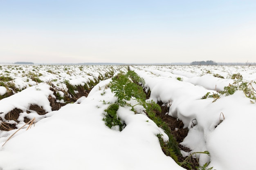
[[256, 62], [255, 0], [0, 0], [0, 62]]

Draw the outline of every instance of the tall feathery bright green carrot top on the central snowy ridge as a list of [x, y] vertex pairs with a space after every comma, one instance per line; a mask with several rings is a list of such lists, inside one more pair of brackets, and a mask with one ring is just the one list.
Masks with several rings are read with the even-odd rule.
[[119, 73], [112, 78], [110, 89], [115, 93], [117, 97], [117, 103], [120, 106], [125, 106], [126, 102], [132, 97], [139, 103], [143, 103], [146, 100], [146, 95], [141, 86], [138, 84], [144, 84], [144, 79], [139, 77], [134, 71], [128, 71], [126, 74]]

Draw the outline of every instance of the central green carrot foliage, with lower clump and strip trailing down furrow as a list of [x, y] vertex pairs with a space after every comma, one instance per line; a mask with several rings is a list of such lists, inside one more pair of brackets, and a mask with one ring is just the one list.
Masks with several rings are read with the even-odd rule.
[[[161, 107], [153, 101], [146, 102], [146, 94], [143, 91], [143, 88], [140, 84], [144, 84], [144, 79], [139, 77], [134, 71], [128, 70], [126, 74], [123, 72], [119, 73], [117, 76], [112, 78], [112, 82], [110, 83], [110, 89], [115, 96], [117, 97], [117, 103], [109, 106], [106, 114], [106, 118], [103, 120], [108, 127], [119, 126], [119, 130], [121, 131], [124, 127], [124, 123], [121, 122], [119, 117], [116, 114], [118, 106], [130, 106], [127, 104], [127, 101], [130, 99], [136, 99], [139, 104], [144, 106], [146, 109], [146, 113], [148, 117], [155, 122], [155, 124], [162, 128], [166, 135], [168, 135], [169, 140], [164, 141], [161, 134], [158, 134], [157, 137], [159, 139], [160, 146], [163, 152], [172, 157], [176, 162], [177, 155], [181, 155], [180, 148], [178, 147], [178, 143], [171, 134], [171, 129], [168, 125], [160, 118], [155, 115], [156, 112], [161, 112]], [[132, 106], [132, 110], [134, 110]]]

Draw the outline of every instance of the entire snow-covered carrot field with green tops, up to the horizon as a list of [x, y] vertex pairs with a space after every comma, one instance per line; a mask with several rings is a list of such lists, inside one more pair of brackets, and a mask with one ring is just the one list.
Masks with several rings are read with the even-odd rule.
[[256, 66], [0, 65], [0, 170], [254, 169]]

